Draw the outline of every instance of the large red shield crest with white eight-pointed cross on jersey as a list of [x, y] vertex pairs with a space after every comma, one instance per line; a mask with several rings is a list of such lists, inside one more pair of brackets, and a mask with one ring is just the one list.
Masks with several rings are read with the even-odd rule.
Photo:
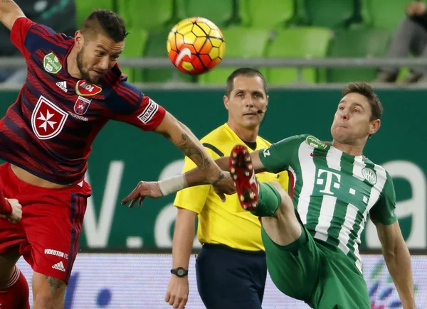
[[41, 96], [31, 115], [33, 132], [38, 139], [52, 139], [63, 129], [67, 117], [67, 113]]

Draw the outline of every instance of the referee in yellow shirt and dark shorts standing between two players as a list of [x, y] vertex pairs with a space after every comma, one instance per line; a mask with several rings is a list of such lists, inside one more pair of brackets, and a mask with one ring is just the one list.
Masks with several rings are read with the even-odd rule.
[[[243, 67], [227, 79], [223, 102], [228, 121], [201, 142], [214, 158], [228, 155], [238, 143], [250, 151], [270, 145], [258, 136], [268, 105], [265, 77]], [[195, 165], [185, 159], [184, 172]], [[278, 181], [288, 189], [288, 174], [259, 173], [260, 182]], [[241, 208], [236, 194], [221, 202], [211, 185], [186, 188], [176, 194], [173, 265], [165, 300], [183, 309], [189, 296], [188, 268], [193, 248], [194, 225], [202, 244], [196, 259], [197, 287], [207, 309], [261, 309], [267, 266], [260, 234], [260, 221]]]

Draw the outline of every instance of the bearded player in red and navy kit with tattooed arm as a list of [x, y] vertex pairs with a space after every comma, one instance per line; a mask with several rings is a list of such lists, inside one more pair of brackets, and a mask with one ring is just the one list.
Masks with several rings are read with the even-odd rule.
[[[33, 308], [59, 309], [91, 194], [84, 180], [91, 144], [107, 121], [166, 136], [206, 170], [206, 183], [222, 197], [235, 189], [184, 124], [126, 82], [116, 62], [127, 31], [115, 13], [94, 11], [74, 38], [33, 23], [11, 0], [0, 1], [0, 21], [28, 67], [0, 121], [4, 196], [22, 205], [19, 224], [0, 218], [1, 309], [28, 308], [28, 286], [15, 266], [20, 256], [34, 271]], [[163, 182], [162, 192], [184, 188], [186, 177], [176, 178]]]

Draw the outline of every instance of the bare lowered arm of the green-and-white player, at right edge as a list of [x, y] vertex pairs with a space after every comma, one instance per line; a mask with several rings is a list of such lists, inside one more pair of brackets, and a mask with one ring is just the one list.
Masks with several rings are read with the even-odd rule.
[[381, 241], [384, 259], [404, 309], [415, 309], [411, 256], [402, 236], [399, 222], [384, 225], [374, 222]]

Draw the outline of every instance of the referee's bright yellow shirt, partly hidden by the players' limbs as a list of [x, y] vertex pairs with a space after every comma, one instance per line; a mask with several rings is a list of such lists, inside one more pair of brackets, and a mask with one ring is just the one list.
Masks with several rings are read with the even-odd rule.
[[[233, 146], [244, 144], [228, 124], [211, 131], [201, 142], [214, 159], [229, 156]], [[256, 150], [259, 150], [270, 146], [270, 143], [258, 136], [256, 146]], [[252, 151], [251, 148], [248, 150]], [[184, 173], [195, 167], [193, 161], [185, 158]], [[287, 172], [258, 173], [257, 178], [260, 182], [278, 181], [288, 190]], [[225, 244], [246, 251], [264, 250], [259, 219], [243, 210], [237, 194], [226, 195], [226, 202], [222, 202], [211, 185], [200, 185], [176, 193], [174, 205], [199, 215], [197, 235], [201, 244]]]

